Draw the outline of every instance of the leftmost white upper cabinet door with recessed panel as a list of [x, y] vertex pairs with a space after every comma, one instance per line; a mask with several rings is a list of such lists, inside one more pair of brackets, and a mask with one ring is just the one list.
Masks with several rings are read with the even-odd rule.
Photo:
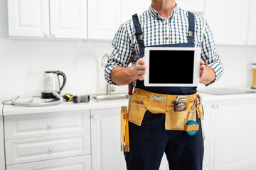
[[47, 37], [49, 1], [8, 0], [9, 35]]

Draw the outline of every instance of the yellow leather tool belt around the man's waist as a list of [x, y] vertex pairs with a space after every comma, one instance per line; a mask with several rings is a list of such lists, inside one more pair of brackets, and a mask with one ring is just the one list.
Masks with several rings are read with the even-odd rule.
[[128, 119], [129, 122], [136, 125], [142, 125], [144, 114], [147, 111], [159, 114], [166, 114], [165, 128], [166, 130], [198, 130], [199, 125], [187, 126], [188, 120], [196, 121], [196, 113], [198, 118], [203, 118], [202, 103], [197, 102], [200, 98], [198, 94], [186, 95], [187, 101], [183, 102], [186, 111], [174, 111], [174, 103], [178, 95], [156, 94], [143, 89], [134, 89], [129, 100]]

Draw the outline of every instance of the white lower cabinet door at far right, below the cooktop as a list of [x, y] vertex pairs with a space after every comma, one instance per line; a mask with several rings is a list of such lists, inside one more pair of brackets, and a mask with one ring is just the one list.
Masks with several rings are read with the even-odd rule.
[[256, 99], [218, 101], [215, 113], [215, 169], [256, 166]]

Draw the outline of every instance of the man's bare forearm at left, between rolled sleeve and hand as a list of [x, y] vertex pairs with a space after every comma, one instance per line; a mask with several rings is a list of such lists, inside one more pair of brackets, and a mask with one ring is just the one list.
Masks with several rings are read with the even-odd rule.
[[114, 67], [110, 73], [110, 79], [117, 85], [126, 85], [130, 84], [133, 81], [137, 80], [134, 77], [133, 67]]

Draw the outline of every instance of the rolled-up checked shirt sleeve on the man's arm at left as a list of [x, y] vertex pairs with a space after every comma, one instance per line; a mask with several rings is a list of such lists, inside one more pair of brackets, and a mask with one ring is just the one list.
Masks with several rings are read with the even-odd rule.
[[114, 67], [127, 67], [132, 61], [132, 45], [127, 33], [127, 23], [123, 23], [112, 40], [112, 54], [105, 65], [105, 79], [108, 84], [114, 84], [110, 73]]

